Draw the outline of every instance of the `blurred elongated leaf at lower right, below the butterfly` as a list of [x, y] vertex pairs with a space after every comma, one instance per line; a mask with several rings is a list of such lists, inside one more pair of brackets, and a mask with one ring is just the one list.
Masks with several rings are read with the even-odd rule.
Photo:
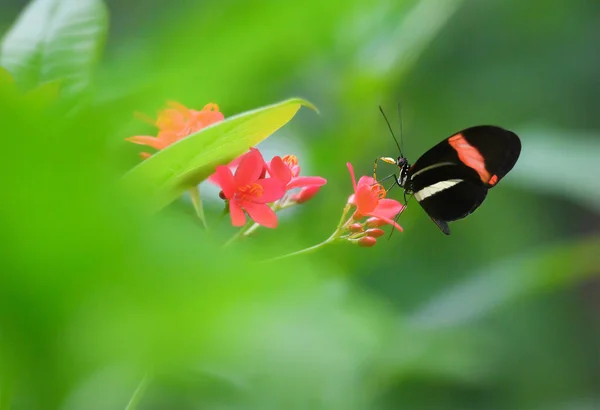
[[570, 285], [598, 272], [600, 237], [544, 248], [492, 265], [416, 312], [411, 324], [443, 328], [478, 320], [538, 292]]

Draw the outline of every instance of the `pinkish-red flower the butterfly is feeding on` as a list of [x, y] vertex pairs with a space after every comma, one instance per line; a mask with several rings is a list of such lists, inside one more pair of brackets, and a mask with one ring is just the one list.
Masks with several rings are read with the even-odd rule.
[[385, 198], [385, 189], [372, 177], [363, 176], [356, 183], [352, 164], [348, 162], [346, 165], [354, 186], [354, 194], [348, 198], [348, 203], [356, 206], [353, 219], [375, 217], [402, 231], [402, 227], [394, 222], [393, 218], [404, 209], [404, 205], [396, 200]]

